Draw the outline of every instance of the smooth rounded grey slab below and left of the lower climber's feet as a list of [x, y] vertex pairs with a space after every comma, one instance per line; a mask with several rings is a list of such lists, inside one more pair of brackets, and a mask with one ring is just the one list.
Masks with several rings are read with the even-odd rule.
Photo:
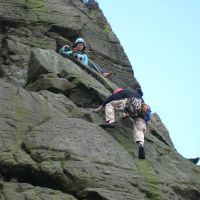
[[[51, 130], [51, 132], [45, 134], [45, 130]], [[72, 155], [92, 162], [109, 162], [124, 168], [132, 167], [131, 160], [127, 160], [131, 156], [123, 151], [109, 134], [97, 125], [81, 119], [50, 120], [27, 135], [24, 145], [28, 151], [41, 148], [52, 149], [70, 152]]]

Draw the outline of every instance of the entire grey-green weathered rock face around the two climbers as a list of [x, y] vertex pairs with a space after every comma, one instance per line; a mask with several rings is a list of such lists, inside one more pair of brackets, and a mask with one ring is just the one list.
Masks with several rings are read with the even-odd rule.
[[[105, 81], [56, 52], [84, 37]], [[137, 159], [132, 121], [98, 126], [112, 86], [140, 87], [101, 10], [79, 0], [0, 0], [0, 199], [196, 200], [200, 168], [157, 114]], [[110, 87], [111, 86], [111, 87]]]

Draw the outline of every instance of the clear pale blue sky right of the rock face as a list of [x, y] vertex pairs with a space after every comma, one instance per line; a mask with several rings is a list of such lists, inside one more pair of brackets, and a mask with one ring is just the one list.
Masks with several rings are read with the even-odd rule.
[[200, 157], [200, 1], [97, 2], [176, 150]]

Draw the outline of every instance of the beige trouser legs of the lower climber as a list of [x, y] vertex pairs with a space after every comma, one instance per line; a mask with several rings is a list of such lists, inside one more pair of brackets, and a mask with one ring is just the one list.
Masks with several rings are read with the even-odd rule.
[[[111, 101], [105, 106], [106, 121], [109, 123], [115, 122], [115, 111], [123, 112], [127, 102], [127, 98]], [[141, 142], [144, 145], [144, 133], [146, 131], [146, 123], [142, 118], [133, 120], [133, 138], [135, 142]]]

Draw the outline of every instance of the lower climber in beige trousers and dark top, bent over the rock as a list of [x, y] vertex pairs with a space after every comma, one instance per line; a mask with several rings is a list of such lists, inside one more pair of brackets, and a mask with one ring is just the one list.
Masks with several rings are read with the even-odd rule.
[[143, 92], [140, 88], [136, 92], [118, 88], [99, 108], [94, 110], [100, 112], [105, 108], [106, 122], [100, 124], [102, 128], [115, 128], [115, 110], [126, 113], [133, 119], [133, 137], [138, 146], [139, 159], [145, 159], [144, 133], [146, 125], [150, 123], [151, 113], [150, 107], [144, 103], [142, 96]]

